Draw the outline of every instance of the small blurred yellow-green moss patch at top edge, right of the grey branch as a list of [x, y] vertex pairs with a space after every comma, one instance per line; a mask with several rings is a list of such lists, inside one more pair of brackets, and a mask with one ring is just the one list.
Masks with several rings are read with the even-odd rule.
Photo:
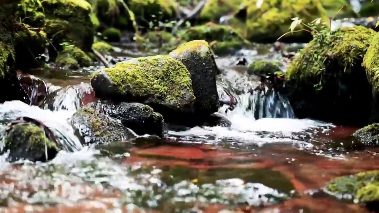
[[216, 22], [222, 16], [237, 12], [243, 2], [245, 2], [245, 0], [210, 0], [201, 10], [200, 19], [206, 22]]

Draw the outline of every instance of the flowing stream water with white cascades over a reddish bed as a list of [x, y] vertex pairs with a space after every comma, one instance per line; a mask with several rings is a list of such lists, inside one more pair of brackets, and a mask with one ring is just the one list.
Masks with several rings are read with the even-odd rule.
[[[269, 51], [241, 52], [250, 61], [281, 60]], [[356, 145], [354, 128], [296, 119], [288, 100], [274, 92], [241, 92], [257, 80], [246, 67], [230, 66], [233, 60], [216, 59], [224, 69], [218, 86], [239, 100], [233, 111], [218, 112], [231, 127], [194, 127], [168, 131], [163, 139], [144, 135], [90, 147], [80, 144], [68, 119], [96, 100], [91, 71], [33, 73], [49, 86], [45, 106], [0, 105], [0, 136], [6, 122], [29, 116], [65, 146], [47, 163], [0, 157], [1, 211], [366, 212], [327, 196], [322, 187], [333, 177], [378, 169], [376, 150]]]

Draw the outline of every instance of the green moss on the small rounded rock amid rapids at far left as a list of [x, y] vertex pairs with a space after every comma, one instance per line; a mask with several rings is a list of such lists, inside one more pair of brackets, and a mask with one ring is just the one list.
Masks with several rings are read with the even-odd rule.
[[[15, 139], [17, 138], [17, 141]], [[50, 141], [46, 136], [44, 130], [33, 124], [16, 124], [12, 127], [12, 130], [5, 137], [5, 147], [6, 149], [20, 149], [20, 147], [25, 146], [27, 150], [24, 152], [34, 152], [39, 153], [45, 152], [45, 146], [48, 149], [57, 150], [58, 147], [53, 141]]]

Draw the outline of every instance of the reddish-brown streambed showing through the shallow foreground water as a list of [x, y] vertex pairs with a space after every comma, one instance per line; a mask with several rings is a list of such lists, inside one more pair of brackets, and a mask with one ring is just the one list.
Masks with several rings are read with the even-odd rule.
[[[337, 127], [330, 130], [330, 134], [320, 134], [319, 141], [343, 141], [354, 132], [355, 128]], [[241, 205], [233, 210], [222, 205], [197, 204], [202, 212], [213, 213], [222, 209], [232, 210], [231, 212], [259, 212], [259, 213], [365, 213], [369, 212], [364, 207], [349, 202], [342, 202], [323, 193], [315, 193], [322, 188], [332, 178], [341, 175], [354, 174], [360, 171], [379, 169], [379, 149], [371, 148], [362, 151], [344, 152], [343, 157], [331, 158], [324, 155], [317, 155], [312, 150], [301, 150], [290, 144], [270, 144], [254, 149], [230, 148], [221, 146], [211, 146], [206, 144], [185, 144], [180, 141], [167, 140], [159, 145], [146, 145], [144, 147], [132, 147], [128, 149], [130, 157], [124, 158], [122, 164], [134, 165], [142, 163], [144, 166], [156, 166], [163, 171], [173, 168], [188, 168], [188, 174], [183, 174], [189, 180], [201, 181], [205, 176], [212, 174], [211, 171], [217, 169], [263, 169], [267, 171], [280, 172], [293, 184], [294, 190], [298, 194], [291, 199], [277, 204], [252, 207]], [[14, 168], [19, 169], [19, 168]], [[235, 170], [238, 171], [238, 170]], [[265, 173], [263, 173], [264, 175]], [[238, 177], [238, 173], [235, 177]], [[263, 177], [272, 179], [272, 177]], [[195, 181], [196, 180], [196, 181]], [[274, 179], [273, 179], [274, 180]], [[2, 176], [2, 184], [14, 183], [16, 189], [21, 191], [33, 191], [33, 188], [19, 185], [17, 181], [10, 180], [8, 176]], [[275, 184], [275, 183], [274, 183]], [[278, 183], [280, 184], [280, 183]], [[86, 199], [73, 204], [72, 207], [58, 205], [57, 207], [38, 208], [31, 210], [30, 206], [23, 204], [12, 204], [4, 212], [99, 212], [105, 213], [113, 209], [113, 199], [121, 196], [117, 190], [89, 189], [86, 184], [80, 185], [82, 193], [91, 194], [91, 199]], [[35, 190], [35, 189], [34, 189]], [[60, 190], [60, 193], [64, 193]], [[59, 194], [59, 193], [58, 193]], [[63, 196], [63, 195], [62, 195]], [[101, 205], [97, 201], [101, 200]], [[165, 204], [164, 204], [165, 205]], [[166, 204], [171, 205], [171, 204]], [[30, 209], [30, 211], [28, 211]], [[107, 210], [108, 209], [108, 210]], [[119, 212], [128, 212], [126, 207], [119, 207]], [[170, 211], [175, 212], [172, 208]], [[113, 212], [113, 211], [112, 211]], [[133, 212], [141, 212], [134, 210]], [[146, 212], [162, 212], [148, 210]]]

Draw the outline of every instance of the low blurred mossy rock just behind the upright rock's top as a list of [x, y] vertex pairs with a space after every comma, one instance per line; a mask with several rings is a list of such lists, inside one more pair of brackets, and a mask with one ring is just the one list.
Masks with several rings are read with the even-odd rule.
[[177, 35], [183, 41], [204, 39], [212, 44], [215, 54], [226, 55], [250, 43], [229, 26], [207, 23], [180, 30]]

